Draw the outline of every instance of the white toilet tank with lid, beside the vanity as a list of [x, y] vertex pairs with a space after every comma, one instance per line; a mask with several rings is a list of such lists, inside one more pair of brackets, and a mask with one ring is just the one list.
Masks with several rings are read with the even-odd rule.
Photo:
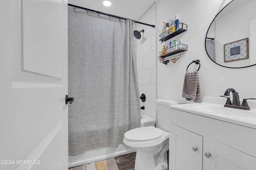
[[157, 99], [156, 100], [156, 119], [157, 127], [169, 131], [169, 111], [171, 105], [185, 104], [185, 102], [168, 99]]

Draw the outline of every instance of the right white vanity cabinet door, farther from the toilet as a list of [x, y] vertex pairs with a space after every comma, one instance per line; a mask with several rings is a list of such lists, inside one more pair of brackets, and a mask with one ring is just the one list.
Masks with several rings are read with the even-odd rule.
[[256, 158], [206, 137], [203, 141], [203, 170], [256, 170]]

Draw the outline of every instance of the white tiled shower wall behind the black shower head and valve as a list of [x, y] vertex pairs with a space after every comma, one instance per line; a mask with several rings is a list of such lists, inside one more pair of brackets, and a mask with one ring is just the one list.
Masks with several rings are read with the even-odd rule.
[[[156, 25], [156, 2], [139, 21]], [[136, 23], [136, 30], [142, 29], [144, 33], [136, 39], [136, 55], [140, 95], [144, 93], [146, 101], [140, 104], [145, 107], [142, 113], [156, 119], [156, 28]]]

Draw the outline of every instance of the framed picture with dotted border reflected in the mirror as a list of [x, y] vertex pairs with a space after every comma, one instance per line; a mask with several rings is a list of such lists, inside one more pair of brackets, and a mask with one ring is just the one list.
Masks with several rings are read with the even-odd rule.
[[224, 62], [249, 59], [248, 40], [245, 38], [224, 44]]

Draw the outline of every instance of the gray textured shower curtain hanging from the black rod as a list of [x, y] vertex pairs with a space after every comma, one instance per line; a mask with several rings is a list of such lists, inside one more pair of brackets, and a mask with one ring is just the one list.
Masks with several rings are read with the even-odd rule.
[[68, 9], [69, 155], [117, 147], [140, 127], [133, 23]]

